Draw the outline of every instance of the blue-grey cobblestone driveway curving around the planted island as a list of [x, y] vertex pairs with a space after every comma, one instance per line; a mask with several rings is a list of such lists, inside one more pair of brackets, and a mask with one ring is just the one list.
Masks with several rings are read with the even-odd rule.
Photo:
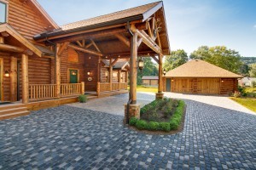
[[256, 168], [255, 115], [186, 104], [183, 133], [175, 135], [133, 132], [123, 116], [69, 105], [2, 121], [0, 169]]

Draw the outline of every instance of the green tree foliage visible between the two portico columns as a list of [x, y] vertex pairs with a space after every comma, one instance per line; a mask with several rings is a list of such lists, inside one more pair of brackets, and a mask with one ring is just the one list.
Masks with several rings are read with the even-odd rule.
[[137, 84], [141, 85], [143, 83], [143, 76], [158, 76], [157, 65], [152, 62], [151, 57], [144, 57], [144, 68], [143, 71], [137, 71]]

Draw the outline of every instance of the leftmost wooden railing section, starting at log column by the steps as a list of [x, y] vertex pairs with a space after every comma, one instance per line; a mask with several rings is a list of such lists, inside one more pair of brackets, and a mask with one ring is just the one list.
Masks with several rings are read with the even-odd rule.
[[29, 88], [29, 99], [31, 100], [57, 98], [56, 84], [30, 84]]

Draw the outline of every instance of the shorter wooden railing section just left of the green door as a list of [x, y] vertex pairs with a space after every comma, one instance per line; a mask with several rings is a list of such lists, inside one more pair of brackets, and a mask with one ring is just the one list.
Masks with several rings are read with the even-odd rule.
[[61, 96], [81, 94], [81, 83], [61, 84]]

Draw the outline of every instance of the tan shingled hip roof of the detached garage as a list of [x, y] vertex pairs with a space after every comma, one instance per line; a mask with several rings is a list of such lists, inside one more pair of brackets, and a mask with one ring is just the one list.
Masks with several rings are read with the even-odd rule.
[[231, 71], [224, 70], [216, 65], [212, 65], [201, 59], [193, 59], [178, 66], [166, 73], [166, 77], [221, 77], [221, 78], [241, 78]]

